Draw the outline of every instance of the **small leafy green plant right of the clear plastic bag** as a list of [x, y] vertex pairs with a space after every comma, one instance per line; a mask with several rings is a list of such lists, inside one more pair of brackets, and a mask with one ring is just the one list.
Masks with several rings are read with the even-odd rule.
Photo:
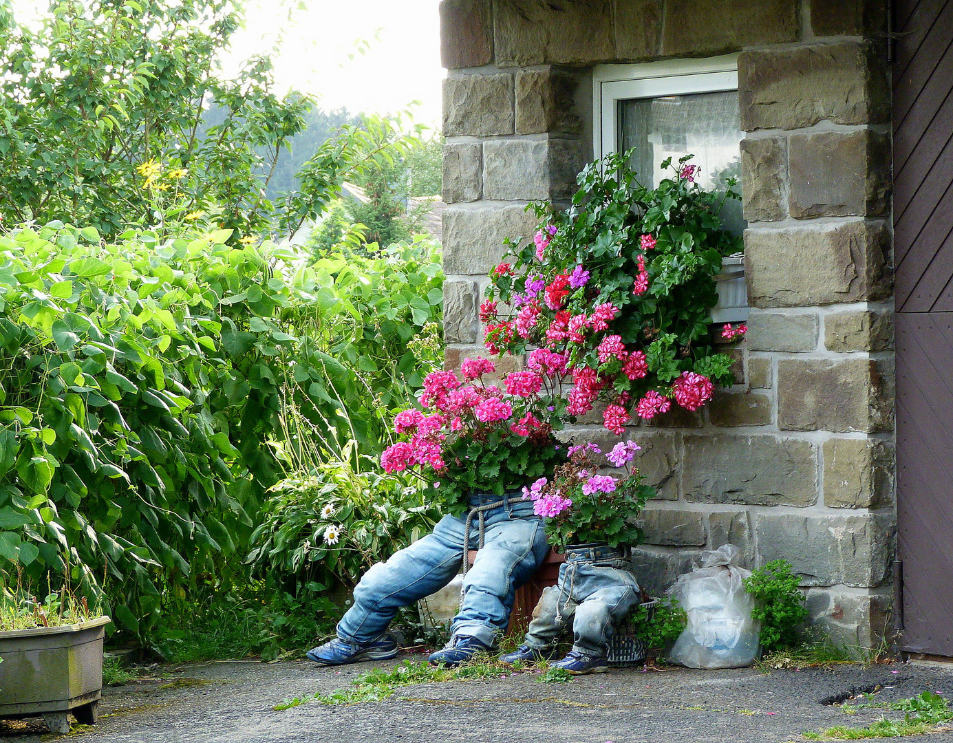
[[807, 618], [800, 580], [787, 560], [772, 560], [744, 579], [744, 588], [756, 599], [752, 616], [761, 623], [762, 653], [798, 645], [801, 623]]

